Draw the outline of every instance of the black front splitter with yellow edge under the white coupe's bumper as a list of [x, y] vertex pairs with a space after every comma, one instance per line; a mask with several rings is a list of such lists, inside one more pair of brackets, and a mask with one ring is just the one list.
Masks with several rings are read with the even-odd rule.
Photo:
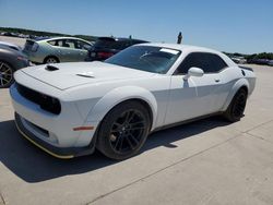
[[[86, 147], [55, 147], [45, 141], [36, 137], [29, 130], [27, 130], [24, 125], [25, 120], [15, 112], [15, 124], [19, 132], [31, 143], [39, 147], [40, 149], [45, 150], [49, 155], [61, 158], [61, 159], [69, 159], [73, 157], [90, 155], [95, 150], [95, 143], [92, 142]], [[94, 137], [95, 138], [95, 137]]]

